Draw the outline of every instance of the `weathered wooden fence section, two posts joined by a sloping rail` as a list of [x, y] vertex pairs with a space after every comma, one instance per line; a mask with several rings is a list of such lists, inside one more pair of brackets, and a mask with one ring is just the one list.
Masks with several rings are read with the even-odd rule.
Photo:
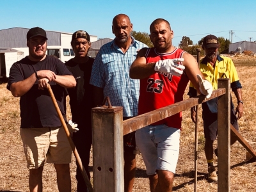
[[[204, 95], [199, 95], [181, 102], [177, 102], [170, 106], [161, 109], [150, 111], [140, 116], [122, 121], [122, 107], [112, 107], [111, 105], [104, 108], [97, 107], [92, 109], [92, 129], [93, 129], [93, 191], [95, 192], [123, 192], [124, 191], [124, 156], [123, 156], [123, 135], [128, 134], [137, 129], [141, 129], [147, 125], [153, 124], [159, 120], [172, 116], [180, 111], [190, 109], [193, 106], [202, 104], [207, 100], [218, 97], [218, 108], [221, 109], [221, 114], [218, 115], [218, 132], [223, 131], [221, 143], [219, 145], [218, 165], [219, 179], [223, 184], [218, 191], [230, 191], [230, 83], [229, 79], [218, 79], [220, 88], [212, 92], [209, 99], [205, 99]], [[218, 84], [219, 86], [219, 84]], [[220, 98], [220, 99], [219, 99]], [[229, 105], [228, 105], [229, 104]], [[219, 107], [221, 105], [221, 108]], [[225, 116], [224, 116], [225, 115]], [[229, 118], [226, 118], [229, 117]], [[221, 119], [221, 124], [219, 124]], [[219, 132], [220, 140], [220, 132]], [[218, 141], [219, 141], [218, 140]], [[223, 150], [220, 150], [223, 148]], [[225, 156], [222, 154], [225, 153]], [[219, 162], [221, 159], [221, 163]], [[223, 172], [225, 168], [225, 172]], [[220, 174], [223, 172], [223, 174]]]

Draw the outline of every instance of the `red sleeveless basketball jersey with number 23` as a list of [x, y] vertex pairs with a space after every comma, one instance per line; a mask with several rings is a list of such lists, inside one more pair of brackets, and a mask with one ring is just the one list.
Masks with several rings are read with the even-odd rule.
[[[159, 60], [182, 58], [185, 51], [175, 48], [172, 52], [157, 53], [155, 48], [148, 48], [146, 53], [147, 63], [154, 63]], [[182, 63], [181, 63], [182, 64]], [[140, 79], [139, 115], [163, 108], [183, 100], [183, 95], [188, 85], [186, 74], [172, 76], [156, 72], [151, 76]], [[166, 124], [168, 127], [181, 128], [182, 113], [160, 120], [152, 125]]]

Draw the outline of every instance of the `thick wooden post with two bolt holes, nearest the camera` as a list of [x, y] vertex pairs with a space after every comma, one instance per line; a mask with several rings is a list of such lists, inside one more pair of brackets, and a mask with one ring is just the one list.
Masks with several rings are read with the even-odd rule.
[[92, 109], [93, 191], [124, 192], [123, 108]]

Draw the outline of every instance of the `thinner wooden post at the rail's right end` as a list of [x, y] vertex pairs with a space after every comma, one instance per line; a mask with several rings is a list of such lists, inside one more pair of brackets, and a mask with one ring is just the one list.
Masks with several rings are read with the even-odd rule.
[[226, 94], [218, 97], [218, 192], [230, 192], [230, 81], [218, 79]]

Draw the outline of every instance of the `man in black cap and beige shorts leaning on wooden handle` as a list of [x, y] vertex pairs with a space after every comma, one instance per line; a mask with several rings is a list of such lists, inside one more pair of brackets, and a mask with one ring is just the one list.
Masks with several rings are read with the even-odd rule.
[[27, 46], [29, 55], [13, 63], [7, 88], [14, 97], [20, 97], [20, 136], [29, 168], [29, 190], [42, 191], [44, 163], [54, 163], [59, 191], [71, 191], [71, 148], [45, 88], [51, 84], [66, 120], [64, 88], [76, 86], [76, 80], [60, 60], [45, 54], [44, 29], [29, 29]]

